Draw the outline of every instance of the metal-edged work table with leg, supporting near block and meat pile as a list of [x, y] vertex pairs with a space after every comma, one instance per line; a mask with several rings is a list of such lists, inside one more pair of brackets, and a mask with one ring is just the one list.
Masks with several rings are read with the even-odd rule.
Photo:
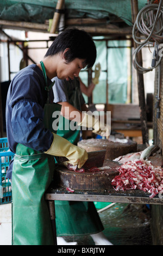
[[75, 190], [73, 193], [66, 191], [66, 188], [56, 187], [53, 183], [48, 188], [45, 198], [48, 200], [51, 216], [54, 245], [57, 245], [57, 234], [55, 226], [55, 200], [67, 201], [90, 201], [90, 202], [111, 202], [111, 203], [135, 203], [135, 204], [163, 204], [163, 194], [154, 198], [141, 190], [115, 191], [110, 190]]

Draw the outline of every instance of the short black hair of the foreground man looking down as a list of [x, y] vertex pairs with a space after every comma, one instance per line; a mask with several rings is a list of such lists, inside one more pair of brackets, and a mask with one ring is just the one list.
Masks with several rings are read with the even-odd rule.
[[93, 42], [89, 33], [76, 28], [66, 29], [53, 41], [45, 57], [64, 52], [66, 48], [70, 48], [65, 53], [67, 63], [72, 62], [75, 58], [85, 59], [87, 69], [92, 68], [96, 60], [97, 51], [95, 42]]

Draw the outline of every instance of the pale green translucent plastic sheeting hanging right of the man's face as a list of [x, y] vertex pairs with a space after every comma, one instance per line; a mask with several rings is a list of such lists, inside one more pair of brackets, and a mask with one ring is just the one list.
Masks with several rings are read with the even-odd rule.
[[[106, 102], [107, 79], [109, 103], [126, 103], [128, 83], [127, 41], [108, 40], [108, 46], [106, 46], [105, 40], [95, 40], [95, 44], [97, 48], [96, 63], [99, 62], [101, 64], [101, 74], [99, 76], [99, 83], [93, 90], [93, 103]], [[108, 59], [106, 59], [107, 56]], [[94, 69], [95, 65], [93, 66], [93, 70]], [[106, 69], [108, 69], [108, 78]], [[92, 73], [92, 77], [93, 76], [94, 73]], [[87, 72], [80, 72], [80, 77], [87, 86]], [[83, 96], [87, 102], [87, 97], [85, 95]]]

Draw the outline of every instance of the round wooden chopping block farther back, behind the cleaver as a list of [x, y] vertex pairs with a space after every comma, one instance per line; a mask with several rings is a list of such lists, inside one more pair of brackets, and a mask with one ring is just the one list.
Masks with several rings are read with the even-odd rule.
[[114, 160], [118, 156], [137, 151], [137, 143], [130, 139], [127, 143], [112, 142], [108, 139], [83, 139], [78, 142], [78, 147], [84, 148], [87, 152], [105, 149], [105, 160]]

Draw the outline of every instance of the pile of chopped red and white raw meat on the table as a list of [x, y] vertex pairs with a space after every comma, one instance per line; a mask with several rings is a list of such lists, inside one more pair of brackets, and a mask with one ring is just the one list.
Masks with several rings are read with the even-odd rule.
[[151, 193], [151, 198], [163, 192], [163, 168], [153, 166], [151, 161], [135, 159], [118, 167], [119, 175], [111, 181], [116, 191], [139, 189]]

